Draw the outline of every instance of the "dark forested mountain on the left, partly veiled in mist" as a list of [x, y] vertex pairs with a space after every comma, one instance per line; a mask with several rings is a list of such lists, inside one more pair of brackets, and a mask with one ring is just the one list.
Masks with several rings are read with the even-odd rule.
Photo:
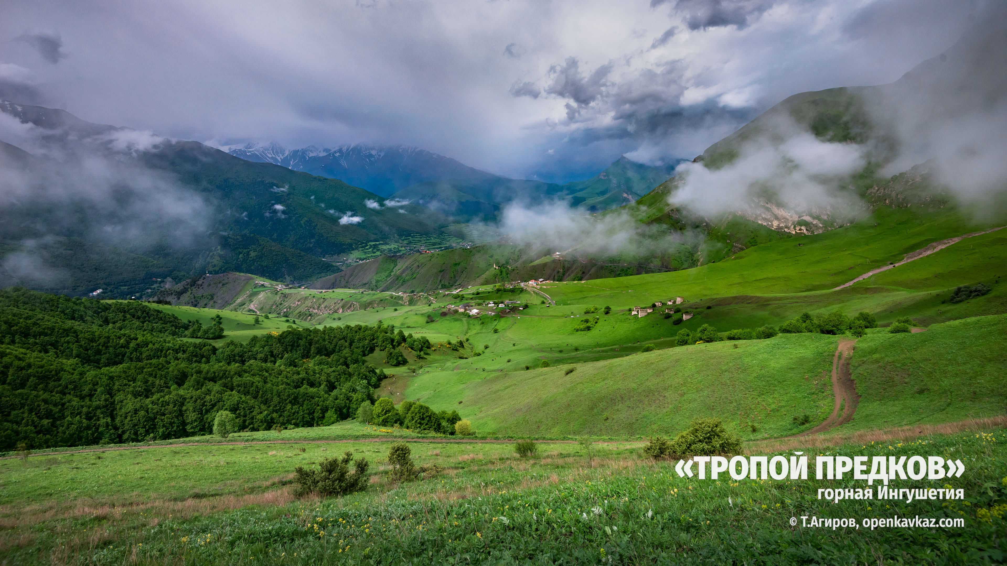
[[452, 239], [444, 217], [339, 180], [61, 110], [0, 111], [2, 286], [115, 297], [205, 271], [305, 281], [362, 245]]

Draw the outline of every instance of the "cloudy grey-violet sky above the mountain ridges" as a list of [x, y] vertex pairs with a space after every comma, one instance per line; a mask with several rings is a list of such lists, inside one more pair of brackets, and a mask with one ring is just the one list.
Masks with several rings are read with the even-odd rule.
[[983, 1], [4, 2], [0, 98], [213, 144], [416, 145], [513, 177], [692, 158], [889, 83]]

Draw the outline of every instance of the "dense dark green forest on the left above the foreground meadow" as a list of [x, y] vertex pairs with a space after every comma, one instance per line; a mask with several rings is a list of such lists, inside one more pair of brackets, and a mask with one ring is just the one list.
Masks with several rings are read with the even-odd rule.
[[[161, 440], [355, 416], [386, 376], [364, 361], [394, 326], [292, 329], [218, 348], [139, 302], [0, 291], [0, 450]], [[401, 332], [400, 332], [401, 333]]]

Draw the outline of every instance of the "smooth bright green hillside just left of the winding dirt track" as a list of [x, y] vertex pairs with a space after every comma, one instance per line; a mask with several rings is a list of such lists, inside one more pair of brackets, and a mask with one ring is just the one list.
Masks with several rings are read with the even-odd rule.
[[[776, 437], [832, 412], [836, 344], [836, 336], [782, 334], [527, 372], [494, 372], [483, 355], [411, 378], [406, 396], [457, 408], [480, 434], [671, 435], [694, 418], [719, 417], [743, 438]], [[798, 425], [805, 414], [810, 423]]]

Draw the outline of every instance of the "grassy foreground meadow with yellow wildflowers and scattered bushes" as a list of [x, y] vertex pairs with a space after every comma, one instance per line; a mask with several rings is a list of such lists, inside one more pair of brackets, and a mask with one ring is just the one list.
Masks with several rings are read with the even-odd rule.
[[[814, 472], [808, 480], [679, 477], [674, 462], [641, 457], [639, 443], [595, 444], [590, 452], [578, 444], [541, 443], [529, 458], [507, 444], [411, 443], [418, 463], [440, 462], [445, 469], [396, 483], [381, 469], [388, 446], [205, 445], [106, 452], [101, 460], [84, 454], [4, 460], [0, 513], [12, 525], [0, 532], [4, 560], [992, 564], [1005, 542], [1004, 519], [990, 513], [1007, 499], [1003, 430], [829, 449], [830, 455], [924, 454], [969, 462], [960, 478], [891, 485], [961, 488], [965, 501], [909, 503], [818, 498], [821, 488], [878, 488], [850, 474], [841, 480], [817, 480]], [[345, 449], [372, 462], [366, 491], [291, 498], [286, 478], [294, 465]], [[98, 477], [88, 477], [88, 468]], [[138, 475], [162, 482], [148, 485]], [[812, 517], [854, 518], [858, 525], [891, 517], [957, 518], [965, 526], [833, 529], [801, 519]]]

